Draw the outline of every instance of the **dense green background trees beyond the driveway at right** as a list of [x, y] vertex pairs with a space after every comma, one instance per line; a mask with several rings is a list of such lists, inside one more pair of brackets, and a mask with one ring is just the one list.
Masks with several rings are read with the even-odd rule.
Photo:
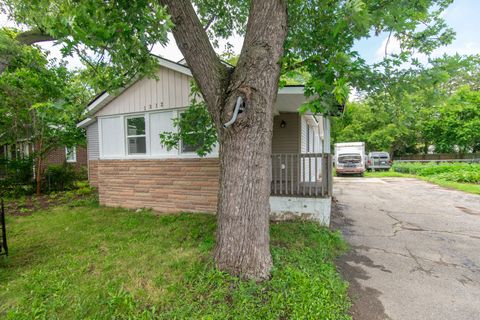
[[377, 74], [381, 86], [335, 119], [334, 140], [395, 155], [478, 152], [479, 69], [480, 56], [454, 55]]

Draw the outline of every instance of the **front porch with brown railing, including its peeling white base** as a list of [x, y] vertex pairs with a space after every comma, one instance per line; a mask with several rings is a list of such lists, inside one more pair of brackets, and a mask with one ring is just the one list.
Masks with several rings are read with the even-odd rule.
[[274, 117], [272, 138], [272, 219], [300, 218], [328, 226], [332, 165], [328, 118], [279, 112]]

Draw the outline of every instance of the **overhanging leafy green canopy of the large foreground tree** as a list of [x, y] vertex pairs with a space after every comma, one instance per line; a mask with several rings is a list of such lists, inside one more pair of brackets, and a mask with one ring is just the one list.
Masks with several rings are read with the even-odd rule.
[[[350, 87], [368, 85], [362, 81], [368, 66], [353, 50], [355, 41], [386, 33], [401, 40], [397, 59], [409, 59], [413, 50], [428, 54], [453, 39], [441, 17], [451, 2], [289, 0], [282, 70], [308, 72], [305, 92], [317, 98], [307, 108], [326, 112], [346, 101]], [[193, 3], [214, 45], [245, 34], [250, 1]], [[149, 52], [166, 43], [173, 26], [165, 7], [154, 0], [6, 0], [3, 8], [15, 21], [62, 43], [64, 54], [79, 54], [94, 70], [103, 67], [98, 76], [110, 90], [139, 73], [151, 75], [155, 59]]]

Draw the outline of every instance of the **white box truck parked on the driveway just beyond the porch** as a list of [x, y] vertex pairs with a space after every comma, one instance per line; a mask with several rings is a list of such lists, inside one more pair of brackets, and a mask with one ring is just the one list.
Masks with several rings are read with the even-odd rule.
[[365, 172], [365, 142], [335, 144], [335, 171], [337, 176]]

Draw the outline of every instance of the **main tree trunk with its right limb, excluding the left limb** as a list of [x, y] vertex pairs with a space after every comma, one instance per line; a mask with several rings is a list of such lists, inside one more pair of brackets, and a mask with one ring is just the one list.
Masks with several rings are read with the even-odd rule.
[[[273, 112], [287, 31], [283, 1], [253, 1], [225, 110], [242, 96], [245, 111], [220, 134], [220, 193], [215, 261], [222, 270], [265, 279], [269, 244]], [[227, 120], [230, 112], [226, 112]]]

